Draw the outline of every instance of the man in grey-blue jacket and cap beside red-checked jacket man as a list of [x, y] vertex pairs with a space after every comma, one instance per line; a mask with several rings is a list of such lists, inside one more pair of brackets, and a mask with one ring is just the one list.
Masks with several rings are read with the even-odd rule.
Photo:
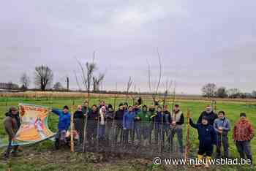
[[[224, 155], [225, 158], [229, 157], [228, 150], [228, 137], [230, 131], [230, 121], [225, 117], [224, 111], [219, 111], [218, 118], [214, 121], [214, 129], [217, 132], [217, 157]], [[224, 153], [221, 153], [223, 145]]]

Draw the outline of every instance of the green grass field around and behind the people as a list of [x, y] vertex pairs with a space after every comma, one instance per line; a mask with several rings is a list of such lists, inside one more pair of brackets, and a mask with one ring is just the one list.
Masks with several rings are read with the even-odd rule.
[[[18, 105], [18, 103], [29, 103], [29, 104], [39, 104], [45, 105], [50, 107], [61, 108], [64, 104], [72, 105], [72, 102], [75, 102], [75, 105], [82, 104], [83, 99], [76, 98], [76, 99], [65, 99], [65, 98], [58, 98], [58, 99], [49, 99], [49, 98], [22, 98], [22, 97], [9, 97], [4, 98], [0, 97], [0, 121], [2, 123], [4, 118], [4, 113], [7, 111], [7, 108], [11, 105]], [[98, 104], [99, 99], [94, 98], [91, 99], [91, 104]], [[105, 98], [105, 102], [107, 104], [113, 104], [114, 99], [113, 97]], [[118, 106], [119, 102], [124, 102], [124, 99], [117, 99], [116, 106]], [[151, 99], [144, 100], [146, 104], [151, 104]], [[130, 100], [130, 103], [132, 101]], [[178, 104], [181, 105], [181, 110], [186, 113], [187, 109], [189, 109], [192, 113], [193, 121], [196, 121], [200, 113], [204, 110], [207, 104], [210, 102], [207, 101], [199, 101], [199, 100], [178, 100]], [[169, 106], [171, 106], [171, 102], [167, 102]], [[169, 107], [170, 109], [170, 107]], [[235, 121], [239, 118], [239, 113], [245, 112], [247, 114], [247, 118], [251, 121], [256, 128], [256, 103], [250, 102], [228, 102], [228, 101], [217, 101], [217, 110], [224, 110], [226, 113], [227, 118], [230, 119], [232, 127]], [[50, 129], [54, 132], [56, 131], [56, 123], [58, 118], [55, 115], [50, 115], [49, 117], [49, 126]], [[184, 129], [184, 133], [186, 130]], [[0, 138], [4, 142], [4, 137], [6, 134], [4, 133], [3, 125], [0, 124]], [[184, 134], [185, 139], [185, 134]], [[197, 152], [197, 133], [195, 129], [192, 131], [192, 156], [196, 155]], [[229, 134], [229, 142], [230, 142], [230, 155], [234, 158], [238, 157], [238, 153], [236, 152], [236, 147], [231, 139], [231, 132]], [[256, 159], [256, 140], [252, 140], [252, 153], [253, 158]], [[85, 162], [83, 161], [83, 157], [80, 155], [83, 154], [70, 154], [68, 151], [65, 151], [67, 159], [59, 159], [58, 155], [62, 155], [60, 152], [53, 151], [53, 142], [50, 140], [41, 142], [37, 145], [30, 145], [28, 147], [24, 147], [24, 155], [15, 161], [12, 161], [12, 170], [167, 170], [168, 168], [165, 167], [153, 167], [150, 161], [136, 161], [136, 159], [129, 159], [129, 162], [135, 161], [135, 163], [127, 163], [127, 159], [121, 157], [120, 159], [114, 159], [116, 162], [106, 161], [105, 164], [94, 164], [93, 162]], [[52, 155], [53, 159], [59, 160], [59, 162], [50, 162], [51, 160], [48, 159]], [[57, 155], [57, 156], [56, 156]], [[64, 154], [63, 154], [64, 155]], [[64, 156], [65, 156], [64, 155]], [[74, 156], [76, 155], [76, 156]], [[31, 157], [29, 157], [31, 156]], [[37, 156], [37, 159], [30, 159]], [[146, 164], [145, 164], [146, 163]], [[48, 166], [45, 166], [48, 164]], [[7, 167], [6, 162], [0, 163], [0, 170], [4, 170]], [[35, 169], [37, 168], [37, 169]], [[59, 168], [59, 169], [58, 169]], [[60, 169], [62, 168], [62, 169]], [[195, 168], [194, 168], [195, 169]], [[213, 170], [246, 170], [247, 167], [214, 167]], [[175, 170], [189, 170], [189, 168], [177, 167]]]

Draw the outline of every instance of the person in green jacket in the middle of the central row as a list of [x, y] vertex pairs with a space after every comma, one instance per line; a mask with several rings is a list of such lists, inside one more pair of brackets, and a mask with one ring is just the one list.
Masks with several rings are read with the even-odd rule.
[[140, 121], [141, 131], [143, 134], [143, 145], [149, 144], [149, 132], [151, 129], [151, 114], [148, 113], [148, 107], [143, 105], [142, 110], [138, 113], [136, 119]]

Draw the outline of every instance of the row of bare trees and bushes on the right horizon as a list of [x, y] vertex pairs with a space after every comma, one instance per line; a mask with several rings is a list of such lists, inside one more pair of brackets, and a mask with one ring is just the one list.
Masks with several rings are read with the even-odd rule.
[[239, 88], [226, 88], [224, 86], [217, 87], [215, 83], [207, 83], [201, 89], [202, 95], [208, 98], [231, 98], [231, 99], [256, 99], [256, 91], [251, 93], [242, 92]]

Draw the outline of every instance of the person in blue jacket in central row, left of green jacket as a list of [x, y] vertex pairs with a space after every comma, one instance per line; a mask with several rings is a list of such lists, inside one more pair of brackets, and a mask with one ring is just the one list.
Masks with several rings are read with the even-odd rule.
[[134, 132], [134, 121], [135, 121], [135, 111], [132, 106], [128, 107], [128, 110], [124, 112], [123, 126], [124, 126], [124, 143], [128, 144], [129, 137], [134, 142], [135, 132]]

